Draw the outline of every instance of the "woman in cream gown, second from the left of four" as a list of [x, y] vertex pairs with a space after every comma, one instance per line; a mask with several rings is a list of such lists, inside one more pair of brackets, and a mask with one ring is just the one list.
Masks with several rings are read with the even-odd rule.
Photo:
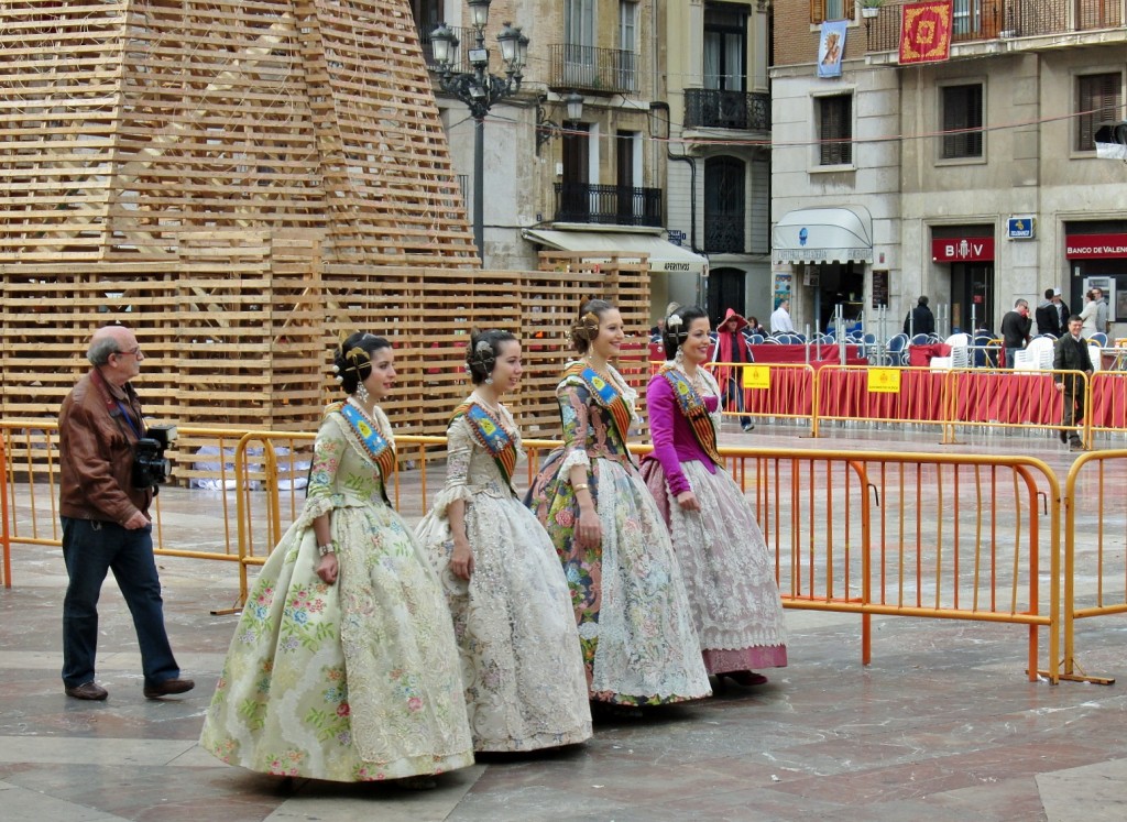
[[521, 434], [502, 396], [521, 344], [474, 333], [476, 386], [447, 431], [446, 485], [416, 534], [446, 592], [477, 751], [531, 751], [591, 737], [567, 582], [551, 540], [513, 490]]

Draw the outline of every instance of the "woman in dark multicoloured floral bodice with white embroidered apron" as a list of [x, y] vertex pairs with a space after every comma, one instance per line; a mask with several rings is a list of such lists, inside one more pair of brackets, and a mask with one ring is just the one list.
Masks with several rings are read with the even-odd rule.
[[708, 674], [669, 533], [627, 450], [637, 394], [610, 364], [624, 335], [618, 309], [588, 300], [573, 341], [582, 360], [556, 389], [561, 450], [530, 504], [571, 590], [593, 700], [660, 705], [707, 697]]

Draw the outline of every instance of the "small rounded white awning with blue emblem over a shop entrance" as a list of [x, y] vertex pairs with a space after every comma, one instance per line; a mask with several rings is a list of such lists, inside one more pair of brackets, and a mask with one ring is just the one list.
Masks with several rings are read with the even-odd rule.
[[872, 216], [867, 209], [799, 209], [771, 229], [772, 263], [851, 260], [872, 262]]

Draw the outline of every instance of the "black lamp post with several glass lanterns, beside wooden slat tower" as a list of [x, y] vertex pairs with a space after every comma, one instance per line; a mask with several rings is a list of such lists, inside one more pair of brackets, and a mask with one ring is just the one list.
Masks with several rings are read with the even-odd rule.
[[472, 71], [454, 71], [458, 36], [445, 23], [431, 34], [434, 61], [438, 67], [438, 87], [470, 109], [473, 117], [473, 242], [485, 264], [485, 127], [486, 115], [506, 97], [521, 90], [524, 65], [529, 56], [529, 38], [521, 34], [520, 26], [508, 23], [497, 35], [500, 59], [505, 65], [505, 77], [489, 73], [489, 50], [486, 48], [486, 24], [489, 21], [489, 3], [492, 0], [467, 0], [470, 21], [473, 26], [474, 44], [467, 51], [467, 62]]

